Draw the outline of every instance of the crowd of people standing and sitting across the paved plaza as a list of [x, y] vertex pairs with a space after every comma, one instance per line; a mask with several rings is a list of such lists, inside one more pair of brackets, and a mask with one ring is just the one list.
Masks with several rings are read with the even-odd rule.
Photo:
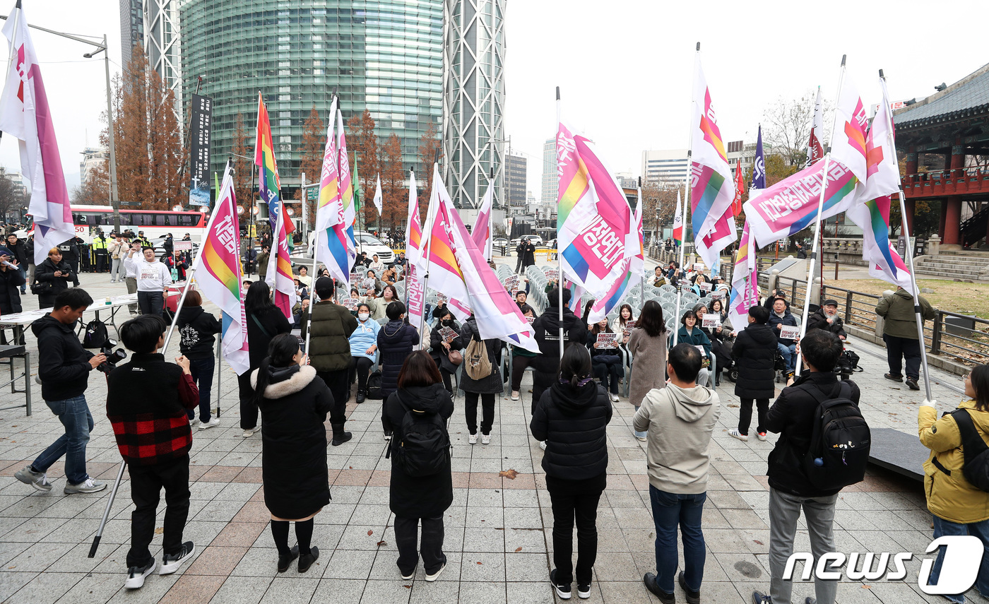
[[[106, 487], [86, 472], [86, 445], [94, 417], [85, 395], [89, 374], [97, 369], [106, 372], [106, 415], [128, 463], [135, 504], [125, 585], [139, 588], [158, 566], [150, 544], [161, 489], [166, 506], [159, 573], [175, 572], [196, 552], [193, 542], [183, 541], [190, 499], [189, 452], [192, 428], [206, 430], [220, 424], [211, 413], [210, 396], [221, 323], [203, 307], [201, 295], [190, 291], [175, 320], [180, 356], [167, 362], [161, 350], [168, 329], [161, 316], [165, 296], [172, 282], [184, 277], [190, 259], [167, 248], [159, 256], [139, 239], [114, 236], [105, 248], [95, 248], [106, 251], [96, 254], [94, 266], [111, 272], [113, 281], [126, 282], [129, 291], [133, 285], [140, 314], [120, 328], [132, 353], [130, 361], [108, 365], [104, 354], [84, 349], [75, 334], [74, 326], [93, 301], [78, 287], [78, 268], [63, 254], [68, 250], [50, 249], [29, 278], [23, 267], [33, 258], [30, 241], [12, 237], [0, 250], [0, 312], [20, 311], [19, 290], [28, 283], [40, 306], [51, 307], [32, 324], [31, 332], [38, 339], [45, 403], [64, 427], [64, 434], [15, 476], [39, 490], [51, 490], [47, 471], [64, 458], [65, 494]], [[256, 262], [260, 270], [261, 255], [266, 253], [262, 250], [245, 260]], [[520, 269], [525, 262], [527, 252], [521, 250]], [[480, 440], [482, 446], [488, 445], [497, 431], [497, 400], [504, 385], [510, 387], [510, 399], [519, 400], [523, 373], [531, 368], [529, 428], [544, 450], [542, 468], [553, 511], [549, 579], [560, 598], [571, 597], [575, 581], [578, 596], [589, 597], [597, 551], [596, 510], [607, 489], [607, 426], [620, 400], [618, 385], [626, 378], [623, 358], [629, 358], [635, 369], [628, 380], [629, 402], [635, 409], [634, 436], [644, 443], [655, 524], [656, 568], [643, 577], [646, 590], [672, 604], [678, 585], [688, 603], [700, 601], [710, 445], [725, 395], [716, 387], [730, 369], [737, 376], [734, 394], [740, 408], [738, 425], [728, 434], [748, 441], [755, 407], [757, 439], [779, 435], [766, 472], [768, 591], [754, 591], [752, 601], [791, 601], [792, 582], [783, 579], [783, 570], [794, 549], [801, 514], [814, 560], [835, 551], [835, 510], [845, 484], [822, 483], [806, 469], [805, 460], [814, 454], [812, 436], [824, 401], [840, 400], [857, 417], [859, 389], [845, 379], [848, 376], [836, 372], [849, 337], [838, 302], [823, 301], [810, 313], [805, 335], [790, 338], [782, 337], [782, 328], [797, 326], [798, 321], [783, 292], [773, 291], [764, 304], [749, 308], [748, 325], [738, 332], [727, 321], [723, 302], [714, 301], [710, 307], [697, 304], [684, 309], [675, 317], [674, 334], [659, 302], [645, 302], [638, 309], [623, 304], [613, 319], [588, 324], [586, 312], [579, 316], [571, 310], [568, 289], [561, 294], [557, 286], [550, 287], [548, 298], [555, 301], [562, 296], [563, 311], [550, 304], [542, 314], [519, 291], [515, 301], [531, 319], [538, 352], [511, 346], [513, 371], [502, 376], [502, 344], [481, 337], [473, 314], [458, 320], [449, 306], [439, 302], [428, 316], [427, 338], [409, 324], [408, 310], [395, 288], [404, 279], [404, 259], [386, 266], [375, 256], [362, 258], [362, 265], [368, 267], [364, 283], [347, 291], [323, 271], [310, 276], [300, 270], [299, 293], [312, 292], [315, 299], [312, 305], [308, 298], [300, 300], [293, 319], [275, 306], [263, 279], [245, 282], [250, 368], [238, 378], [240, 428], [244, 438], [261, 432], [263, 494], [271, 515], [278, 572], [293, 563], [306, 572], [319, 558], [314, 523], [330, 502], [327, 448], [351, 440], [345, 430], [347, 402], [364, 403], [376, 388], [374, 398], [382, 400], [381, 429], [390, 441], [390, 508], [395, 514], [399, 572], [411, 578], [421, 557], [425, 580], [436, 580], [447, 564], [443, 517], [453, 501], [448, 430], [458, 395], [463, 392], [469, 444]], [[655, 280], [671, 283], [687, 277], [672, 264], [658, 268]], [[691, 281], [694, 288], [705, 283], [699, 276]], [[338, 303], [347, 295], [352, 307]], [[926, 300], [920, 298], [918, 306], [922, 318], [933, 318]], [[889, 361], [885, 378], [904, 381], [905, 358], [905, 382], [918, 389], [921, 344], [912, 297], [899, 290], [880, 299], [875, 311], [885, 319], [883, 339]], [[718, 315], [718, 324], [702, 325], [702, 317], [710, 314]], [[310, 332], [309, 350], [303, 350], [301, 338], [290, 333], [294, 326], [304, 334]], [[614, 338], [602, 339], [601, 334]], [[422, 350], [416, 350], [419, 347]], [[796, 376], [798, 362], [801, 371]], [[374, 371], [377, 367], [380, 373]], [[779, 376], [785, 387], [776, 394]], [[156, 385], [153, 391], [146, 388], [149, 380]], [[146, 395], [135, 400], [135, 390]], [[989, 494], [960, 472], [965, 465], [962, 446], [973, 438], [989, 437], [989, 368], [977, 367], [966, 376], [964, 391], [969, 400], [941, 418], [935, 401], [925, 400], [920, 407], [921, 442], [932, 450], [925, 465], [928, 506], [935, 537], [974, 535], [989, 547], [989, 530], [983, 526], [989, 521], [985, 511]], [[141, 446], [148, 435], [167, 446]], [[290, 523], [295, 524], [292, 547]], [[679, 570], [677, 530], [683, 547]], [[943, 559], [944, 552], [935, 561], [932, 581], [937, 580]], [[989, 594], [989, 569], [980, 571], [976, 587]], [[833, 603], [837, 588], [837, 581], [816, 579], [816, 601]], [[964, 601], [960, 594], [946, 597]]]

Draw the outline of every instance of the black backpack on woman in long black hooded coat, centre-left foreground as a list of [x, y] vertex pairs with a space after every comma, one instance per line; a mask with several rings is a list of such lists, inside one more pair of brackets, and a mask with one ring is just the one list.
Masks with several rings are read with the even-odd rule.
[[[450, 463], [450, 435], [439, 413], [416, 411], [405, 405], [396, 394], [405, 417], [402, 418], [402, 440], [395, 448], [395, 459], [405, 475], [420, 477], [438, 474]], [[389, 457], [392, 448], [385, 457]]]

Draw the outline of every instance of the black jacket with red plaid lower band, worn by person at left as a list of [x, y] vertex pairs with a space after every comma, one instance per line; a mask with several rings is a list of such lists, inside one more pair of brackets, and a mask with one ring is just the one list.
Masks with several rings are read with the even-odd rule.
[[107, 417], [128, 464], [151, 466], [189, 453], [192, 430], [186, 409], [198, 404], [192, 376], [165, 363], [160, 354], [135, 354], [108, 379]]

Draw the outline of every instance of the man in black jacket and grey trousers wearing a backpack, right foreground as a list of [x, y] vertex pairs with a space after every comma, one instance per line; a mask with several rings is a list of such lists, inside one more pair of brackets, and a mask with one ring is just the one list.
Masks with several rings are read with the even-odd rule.
[[[814, 565], [826, 553], [835, 552], [833, 524], [838, 490], [814, 487], [801, 467], [810, 448], [817, 421], [816, 411], [822, 399], [832, 398], [840, 390], [835, 364], [842, 355], [842, 341], [823, 329], [808, 331], [800, 341], [804, 364], [809, 371], [791, 381], [769, 408], [765, 427], [779, 434], [769, 454], [769, 593], [753, 594], [754, 602], [788, 603], [793, 583], [783, 580], [786, 561], [793, 554], [793, 539], [801, 508], [810, 534]], [[859, 391], [854, 382], [849, 396], [858, 404]], [[834, 602], [838, 582], [814, 579], [818, 602]], [[810, 600], [810, 598], [808, 598]]]

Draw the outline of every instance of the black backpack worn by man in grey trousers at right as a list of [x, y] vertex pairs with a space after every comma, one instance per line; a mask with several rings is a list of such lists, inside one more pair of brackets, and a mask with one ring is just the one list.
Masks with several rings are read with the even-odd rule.
[[872, 438], [868, 424], [852, 400], [852, 386], [841, 382], [831, 396], [813, 386], [798, 388], [818, 402], [810, 448], [803, 459], [807, 479], [821, 490], [836, 490], [861, 482]]

